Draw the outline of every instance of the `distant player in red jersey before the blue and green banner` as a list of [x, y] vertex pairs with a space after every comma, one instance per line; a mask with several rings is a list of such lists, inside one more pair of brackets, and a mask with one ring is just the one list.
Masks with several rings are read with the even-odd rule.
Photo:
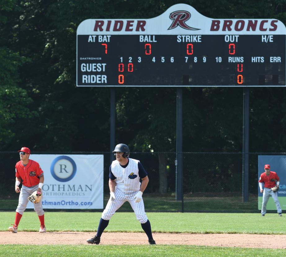
[[[272, 198], [276, 204], [276, 208], [277, 208], [277, 212], [278, 212], [279, 216], [282, 216], [282, 210], [281, 210], [280, 203], [278, 201], [277, 192], [273, 192], [273, 190], [271, 189], [272, 187], [275, 187], [275, 185], [279, 188], [279, 183], [280, 183], [279, 176], [277, 176], [276, 172], [270, 171], [270, 165], [269, 164], [264, 165], [264, 170], [265, 170], [265, 172], [263, 172], [260, 175], [260, 178], [258, 181], [260, 193], [263, 193], [261, 216], [265, 216], [266, 205], [267, 205], [267, 202], [268, 202], [270, 195], [272, 196]], [[262, 189], [262, 183], [264, 183], [264, 190]]]

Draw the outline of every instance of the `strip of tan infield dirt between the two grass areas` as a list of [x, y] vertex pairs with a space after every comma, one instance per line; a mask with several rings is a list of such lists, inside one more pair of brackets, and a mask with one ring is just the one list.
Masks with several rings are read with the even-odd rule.
[[[35, 237], [35, 235], [37, 236]], [[87, 232], [0, 232], [0, 244], [87, 244], [86, 240], [93, 237]], [[158, 245], [201, 245], [230, 246], [250, 248], [280, 248], [286, 249], [286, 235], [256, 235], [256, 234], [189, 234], [189, 233], [153, 233]], [[30, 238], [37, 238], [29, 242]], [[267, 242], [267, 243], [266, 243]], [[148, 244], [145, 233], [103, 233], [102, 245], [144, 245]]]

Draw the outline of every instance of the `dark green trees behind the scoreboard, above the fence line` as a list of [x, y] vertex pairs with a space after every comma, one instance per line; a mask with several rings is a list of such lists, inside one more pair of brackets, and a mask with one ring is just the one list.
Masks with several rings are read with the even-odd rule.
[[[37, 112], [26, 123], [25, 142], [38, 151], [91, 151], [95, 144], [109, 151], [110, 90], [75, 87], [76, 29], [85, 19], [152, 18], [177, 3], [211, 18], [286, 22], [284, 0], [1, 0], [1, 85], [26, 90], [33, 101], [25, 107]], [[285, 151], [284, 91], [251, 89], [250, 151], [263, 151], [266, 144], [267, 151]], [[184, 88], [183, 150], [241, 151], [242, 94], [241, 88]], [[116, 142], [133, 151], [175, 151], [176, 89], [116, 89], [116, 112]], [[277, 125], [269, 133], [271, 120]], [[1, 138], [4, 149], [12, 150], [24, 140], [18, 139], [20, 130], [8, 127]]]

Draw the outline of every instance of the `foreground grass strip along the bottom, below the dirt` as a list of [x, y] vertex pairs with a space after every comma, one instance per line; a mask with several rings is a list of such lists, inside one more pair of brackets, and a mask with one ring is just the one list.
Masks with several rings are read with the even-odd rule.
[[185, 245], [0, 245], [0, 256], [23, 255], [29, 257], [45, 256], [140, 256], [140, 257], [165, 257], [165, 256], [215, 256], [215, 257], [249, 257], [285, 256], [284, 249], [259, 249], [259, 248], [232, 248], [215, 246], [185, 246]]

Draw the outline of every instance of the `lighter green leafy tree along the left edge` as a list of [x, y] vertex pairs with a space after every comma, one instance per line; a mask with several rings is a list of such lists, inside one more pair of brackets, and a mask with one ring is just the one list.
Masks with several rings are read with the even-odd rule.
[[[9, 13], [13, 10], [16, 1], [1, 1], [0, 3], [0, 32], [7, 32], [9, 25]], [[9, 48], [14, 39], [11, 34], [7, 35], [10, 40], [0, 39], [0, 143], [5, 149], [11, 143], [17, 141], [16, 133], [25, 131], [24, 121], [37, 116], [35, 111], [29, 109], [32, 99], [25, 89], [20, 88], [19, 70], [27, 59], [20, 56], [13, 47]]]

